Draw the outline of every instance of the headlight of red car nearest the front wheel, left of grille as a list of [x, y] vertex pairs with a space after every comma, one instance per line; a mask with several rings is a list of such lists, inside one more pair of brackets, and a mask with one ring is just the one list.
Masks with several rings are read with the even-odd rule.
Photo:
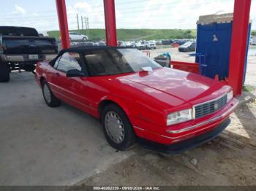
[[193, 119], [192, 109], [185, 109], [179, 112], [168, 114], [167, 125], [174, 125], [180, 122], [185, 122]]

